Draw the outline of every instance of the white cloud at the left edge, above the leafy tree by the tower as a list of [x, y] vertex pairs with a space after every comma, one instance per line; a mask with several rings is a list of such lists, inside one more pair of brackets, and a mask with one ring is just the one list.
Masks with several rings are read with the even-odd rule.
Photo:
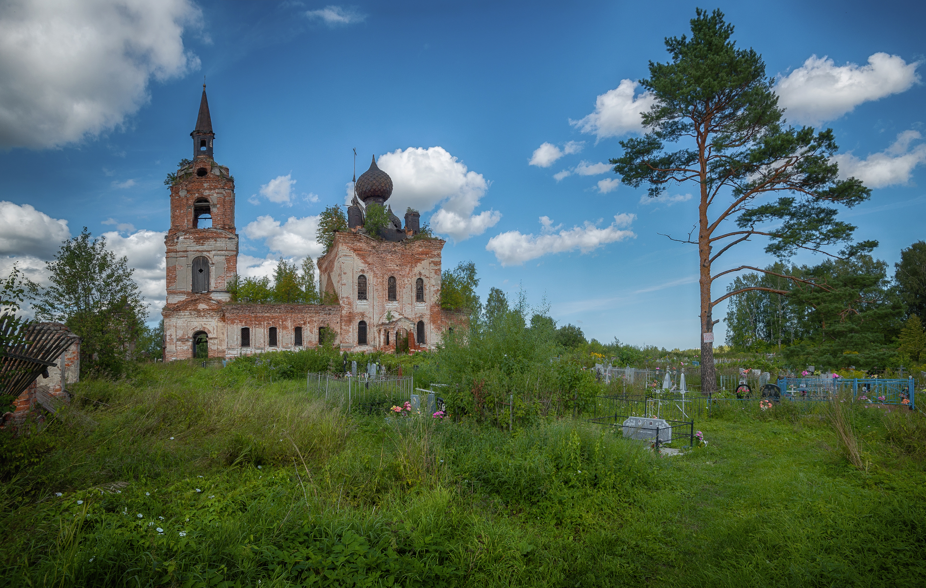
[[31, 204], [0, 201], [0, 255], [49, 260], [65, 239], [70, 239], [68, 221], [52, 218]]

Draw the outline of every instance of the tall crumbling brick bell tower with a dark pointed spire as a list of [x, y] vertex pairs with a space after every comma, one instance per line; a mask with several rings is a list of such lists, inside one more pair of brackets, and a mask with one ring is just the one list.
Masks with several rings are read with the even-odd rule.
[[[167, 304], [164, 358], [195, 357], [208, 343], [209, 357], [224, 357], [221, 305], [231, 300], [228, 285], [237, 272], [234, 179], [212, 158], [213, 141], [206, 84], [193, 138], [193, 161], [177, 170], [170, 186], [167, 245]], [[200, 349], [203, 349], [200, 347]]]

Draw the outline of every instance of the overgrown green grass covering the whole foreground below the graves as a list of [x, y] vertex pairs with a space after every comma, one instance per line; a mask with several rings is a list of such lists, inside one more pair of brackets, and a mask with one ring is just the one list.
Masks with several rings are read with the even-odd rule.
[[2, 438], [0, 584], [926, 583], [908, 411], [851, 411], [857, 469], [823, 414], [786, 406], [718, 410], [707, 447], [660, 457], [581, 422], [348, 417], [299, 380], [183, 364], [76, 392]]

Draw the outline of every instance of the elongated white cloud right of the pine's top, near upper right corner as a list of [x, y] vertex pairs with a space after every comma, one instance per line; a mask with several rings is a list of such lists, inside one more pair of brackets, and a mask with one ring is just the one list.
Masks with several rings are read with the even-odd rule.
[[811, 55], [804, 65], [779, 76], [775, 92], [785, 116], [805, 124], [820, 124], [845, 115], [858, 105], [908, 90], [920, 81], [920, 62], [907, 63], [897, 55], [876, 53], [869, 65], [835, 66], [824, 55]]

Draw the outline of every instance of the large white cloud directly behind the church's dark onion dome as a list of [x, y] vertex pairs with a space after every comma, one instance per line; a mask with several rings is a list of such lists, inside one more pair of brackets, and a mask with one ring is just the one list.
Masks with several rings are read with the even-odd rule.
[[[489, 182], [482, 174], [468, 170], [443, 147], [396, 149], [382, 155], [377, 165], [393, 178], [393, 195], [388, 203], [396, 215], [405, 214], [408, 206], [424, 213], [440, 204], [431, 217], [431, 226], [457, 241], [481, 235], [502, 217], [494, 210], [473, 214]], [[347, 194], [353, 194], [349, 183]]]

